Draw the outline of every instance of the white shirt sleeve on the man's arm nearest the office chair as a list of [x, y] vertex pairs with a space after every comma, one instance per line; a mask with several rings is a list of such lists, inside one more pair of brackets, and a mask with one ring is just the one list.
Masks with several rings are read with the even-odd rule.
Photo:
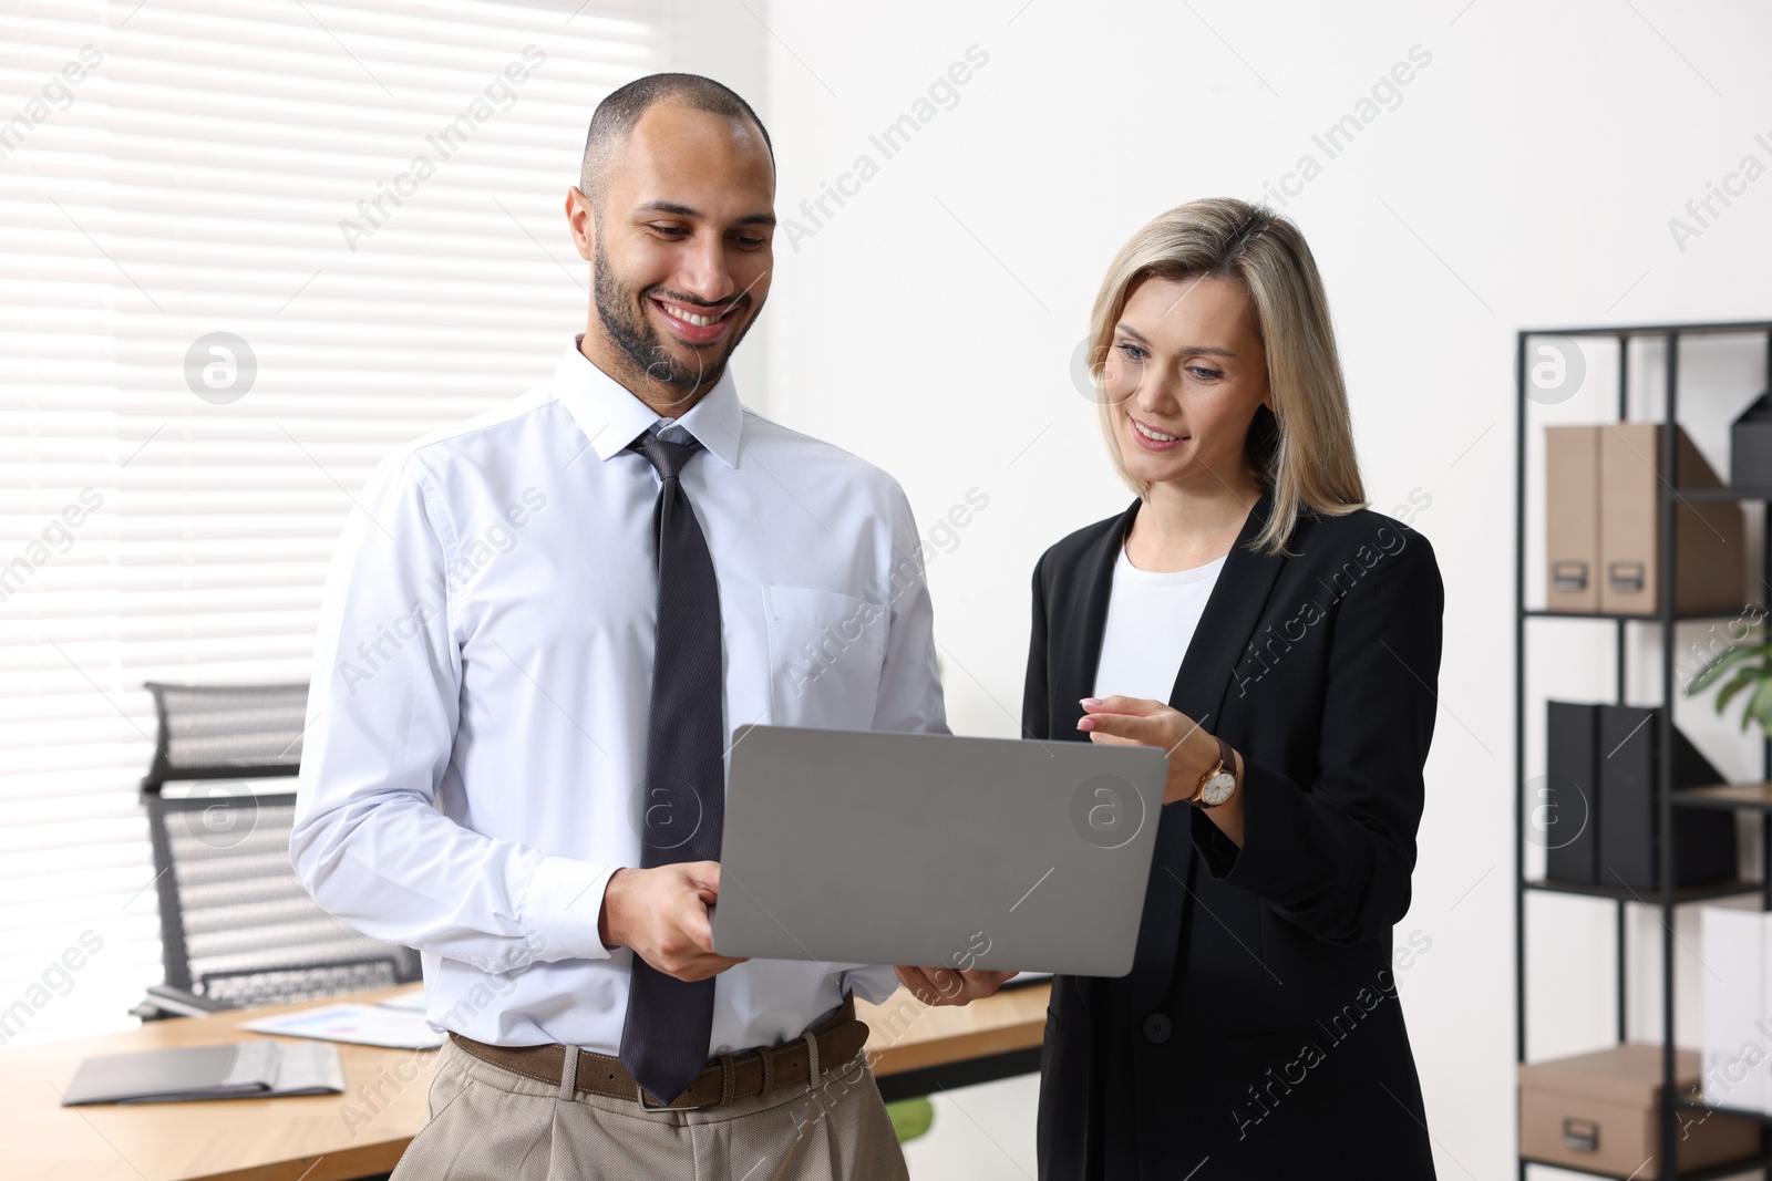
[[289, 841], [296, 876], [365, 935], [487, 972], [608, 956], [597, 915], [615, 866], [487, 838], [436, 807], [459, 722], [457, 561], [422, 460], [385, 460], [326, 579]]

